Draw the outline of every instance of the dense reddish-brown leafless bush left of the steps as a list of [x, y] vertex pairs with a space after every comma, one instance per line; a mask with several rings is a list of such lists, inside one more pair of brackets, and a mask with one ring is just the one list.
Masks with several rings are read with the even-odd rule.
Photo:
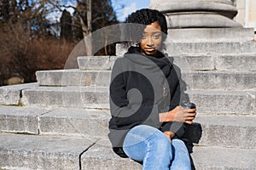
[[36, 71], [64, 68], [74, 47], [74, 43], [54, 37], [31, 38], [20, 23], [6, 25], [0, 30], [0, 37], [0, 85], [15, 76], [35, 82]]

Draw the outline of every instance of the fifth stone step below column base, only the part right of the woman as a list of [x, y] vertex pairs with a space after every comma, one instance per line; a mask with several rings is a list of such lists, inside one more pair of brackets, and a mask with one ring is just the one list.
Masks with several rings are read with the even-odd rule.
[[[256, 149], [256, 116], [221, 116], [197, 114], [203, 132], [199, 144]], [[242, 140], [241, 140], [242, 139]]]

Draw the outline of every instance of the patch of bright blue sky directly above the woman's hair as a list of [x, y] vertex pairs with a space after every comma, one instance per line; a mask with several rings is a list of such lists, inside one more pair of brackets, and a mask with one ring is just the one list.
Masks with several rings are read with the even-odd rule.
[[[148, 8], [150, 0], [112, 0], [113, 10], [119, 21], [124, 21], [128, 14], [140, 8]], [[124, 5], [124, 8], [122, 8]]]

